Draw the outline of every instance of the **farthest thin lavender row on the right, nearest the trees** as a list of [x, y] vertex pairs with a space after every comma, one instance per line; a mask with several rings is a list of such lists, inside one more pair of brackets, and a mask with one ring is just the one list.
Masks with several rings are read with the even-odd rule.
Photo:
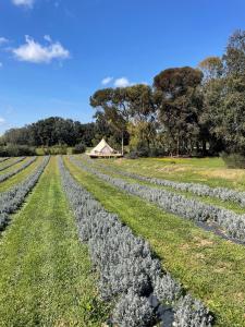
[[[84, 157], [85, 158], [85, 157]], [[87, 161], [93, 162], [91, 159], [86, 158]], [[115, 171], [121, 175], [125, 175], [128, 178], [137, 179], [144, 182], [152, 183], [156, 185], [162, 185], [167, 187], [172, 187], [174, 190], [191, 192], [199, 196], [210, 196], [217, 197], [221, 201], [232, 201], [241, 206], [245, 207], [245, 192], [238, 192], [235, 190], [226, 189], [226, 187], [210, 187], [205, 184], [199, 183], [183, 183], [183, 182], [173, 182], [164, 179], [149, 178], [145, 175], [140, 175], [134, 172], [122, 171], [120, 169], [115, 169], [114, 167], [108, 167], [106, 165], [99, 165], [102, 169], [110, 169]]]

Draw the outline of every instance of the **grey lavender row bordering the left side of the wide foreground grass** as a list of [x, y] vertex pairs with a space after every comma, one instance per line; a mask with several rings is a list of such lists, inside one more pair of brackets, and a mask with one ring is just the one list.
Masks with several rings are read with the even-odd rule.
[[4, 230], [10, 221], [10, 215], [15, 213], [23, 204], [26, 195], [36, 185], [39, 177], [48, 165], [49, 157], [45, 157], [37, 169], [23, 182], [14, 185], [11, 190], [0, 193], [0, 231]]

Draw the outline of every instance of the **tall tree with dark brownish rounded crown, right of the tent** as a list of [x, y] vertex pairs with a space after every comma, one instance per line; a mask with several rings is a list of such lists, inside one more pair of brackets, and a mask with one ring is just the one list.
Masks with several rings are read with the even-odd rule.
[[199, 137], [203, 73], [189, 66], [168, 69], [154, 78], [159, 121], [171, 154], [191, 154]]

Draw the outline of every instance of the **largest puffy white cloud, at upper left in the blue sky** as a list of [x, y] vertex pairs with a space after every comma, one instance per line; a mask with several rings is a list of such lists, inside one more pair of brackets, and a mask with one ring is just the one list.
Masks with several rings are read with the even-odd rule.
[[12, 52], [17, 60], [34, 63], [50, 63], [53, 59], [68, 59], [70, 57], [69, 50], [63, 48], [60, 43], [53, 43], [50, 36], [47, 35], [45, 39], [48, 40], [50, 45], [42, 46], [26, 35], [26, 43], [16, 49], [12, 49]]

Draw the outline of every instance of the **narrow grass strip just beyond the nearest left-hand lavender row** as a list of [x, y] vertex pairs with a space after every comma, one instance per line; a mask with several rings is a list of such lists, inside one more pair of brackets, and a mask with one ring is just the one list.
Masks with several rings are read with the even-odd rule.
[[37, 158], [30, 166], [20, 171], [19, 173], [14, 174], [10, 179], [5, 180], [4, 182], [0, 183], [0, 192], [8, 191], [15, 184], [24, 181], [40, 165], [42, 159], [44, 158], [41, 157]]

